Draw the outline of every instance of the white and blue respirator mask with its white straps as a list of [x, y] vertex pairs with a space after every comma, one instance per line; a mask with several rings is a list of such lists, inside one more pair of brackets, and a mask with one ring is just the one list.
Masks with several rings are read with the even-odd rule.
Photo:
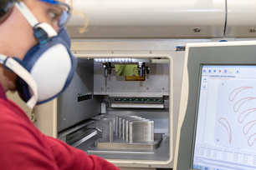
[[48, 23], [38, 23], [23, 2], [15, 2], [15, 7], [33, 27], [39, 44], [28, 51], [23, 61], [0, 54], [0, 63], [18, 75], [19, 96], [33, 108], [64, 92], [74, 75], [77, 60], [69, 50], [66, 28], [60, 28], [58, 33]]

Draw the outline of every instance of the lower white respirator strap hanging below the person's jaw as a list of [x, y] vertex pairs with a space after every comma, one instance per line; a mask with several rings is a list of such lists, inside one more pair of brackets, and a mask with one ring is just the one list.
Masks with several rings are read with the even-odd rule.
[[23, 80], [28, 83], [28, 86], [31, 88], [33, 95], [28, 100], [27, 105], [32, 109], [38, 101], [38, 86], [33, 77], [22, 65], [20, 65], [20, 63], [13, 59], [13, 57], [7, 57], [3, 54], [0, 54], [0, 63], [2, 63], [4, 67], [7, 67], [8, 69], [15, 72], [19, 77], [23, 78]]

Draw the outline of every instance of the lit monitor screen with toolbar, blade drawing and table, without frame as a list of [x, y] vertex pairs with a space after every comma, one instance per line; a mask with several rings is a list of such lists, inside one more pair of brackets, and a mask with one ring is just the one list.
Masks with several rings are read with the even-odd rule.
[[256, 66], [202, 65], [200, 77], [191, 168], [256, 169]]

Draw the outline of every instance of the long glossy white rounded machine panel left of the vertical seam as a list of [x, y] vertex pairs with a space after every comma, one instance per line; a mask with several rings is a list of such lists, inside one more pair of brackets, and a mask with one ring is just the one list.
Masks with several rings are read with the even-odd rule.
[[225, 1], [221, 0], [93, 0], [74, 1], [71, 37], [223, 37]]

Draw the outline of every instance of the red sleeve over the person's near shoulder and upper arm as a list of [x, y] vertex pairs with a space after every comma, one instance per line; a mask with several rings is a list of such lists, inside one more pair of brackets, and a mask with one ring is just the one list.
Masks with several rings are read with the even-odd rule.
[[58, 170], [49, 151], [27, 115], [0, 99], [0, 169]]

